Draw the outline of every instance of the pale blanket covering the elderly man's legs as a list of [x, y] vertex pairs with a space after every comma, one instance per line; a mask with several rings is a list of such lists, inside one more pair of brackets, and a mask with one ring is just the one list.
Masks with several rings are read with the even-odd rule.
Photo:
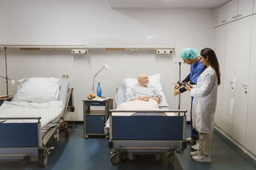
[[[116, 110], [159, 110], [157, 101], [149, 99], [149, 101], [127, 101], [120, 104]], [[156, 113], [154, 113], [156, 114]], [[114, 112], [113, 116], [132, 116], [134, 112]], [[159, 113], [161, 116], [173, 116], [174, 113]], [[104, 127], [104, 132], [107, 134], [109, 132], [109, 119], [106, 122], [106, 127]]]

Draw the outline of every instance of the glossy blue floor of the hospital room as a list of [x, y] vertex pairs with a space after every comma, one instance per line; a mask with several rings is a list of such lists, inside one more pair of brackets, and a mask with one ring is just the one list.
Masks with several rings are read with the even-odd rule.
[[[189, 136], [190, 125], [187, 126]], [[228, 139], [214, 131], [212, 134], [212, 163], [200, 163], [191, 159], [191, 146], [184, 152], [176, 153], [173, 166], [164, 159], [158, 161], [154, 155], [138, 155], [135, 160], [125, 160], [118, 165], [110, 162], [108, 140], [104, 138], [83, 138], [83, 125], [72, 129], [69, 138], [61, 134], [59, 142], [52, 139], [48, 143], [54, 146], [48, 155], [47, 166], [42, 168], [40, 161], [29, 162], [28, 157], [19, 162], [0, 162], [0, 169], [256, 169], [256, 162]]]

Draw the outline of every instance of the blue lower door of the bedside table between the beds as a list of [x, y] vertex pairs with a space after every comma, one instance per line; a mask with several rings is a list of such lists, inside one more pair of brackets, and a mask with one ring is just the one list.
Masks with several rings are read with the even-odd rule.
[[86, 115], [86, 134], [104, 134], [105, 115]]

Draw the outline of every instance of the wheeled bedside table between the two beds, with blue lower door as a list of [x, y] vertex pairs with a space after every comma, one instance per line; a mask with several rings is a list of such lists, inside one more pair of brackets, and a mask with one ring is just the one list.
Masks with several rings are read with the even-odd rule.
[[[104, 110], [91, 110], [92, 106], [104, 106]], [[109, 110], [113, 109], [113, 99], [106, 101], [83, 100], [84, 138], [89, 136], [106, 136], [105, 123], [109, 117]], [[108, 136], [106, 136], [108, 138]]]

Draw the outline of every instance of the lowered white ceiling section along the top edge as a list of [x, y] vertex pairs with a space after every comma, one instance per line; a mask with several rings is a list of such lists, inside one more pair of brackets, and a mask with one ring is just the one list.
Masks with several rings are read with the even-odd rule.
[[228, 0], [109, 0], [111, 8], [215, 8]]

